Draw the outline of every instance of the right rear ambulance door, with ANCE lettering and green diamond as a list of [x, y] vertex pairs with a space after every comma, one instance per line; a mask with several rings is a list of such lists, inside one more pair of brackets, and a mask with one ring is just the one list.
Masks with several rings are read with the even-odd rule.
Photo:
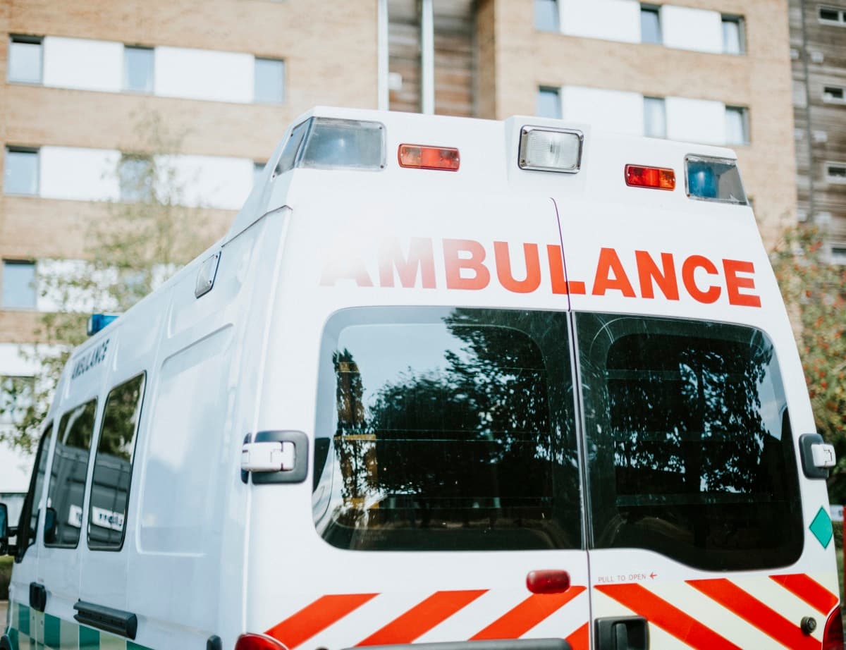
[[673, 167], [673, 192], [620, 164], [605, 201], [557, 201], [592, 647], [819, 648], [837, 575], [788, 318], [750, 207], [687, 197]]

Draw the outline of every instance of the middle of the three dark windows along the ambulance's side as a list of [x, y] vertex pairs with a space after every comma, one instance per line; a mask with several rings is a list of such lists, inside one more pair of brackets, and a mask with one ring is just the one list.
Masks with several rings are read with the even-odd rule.
[[[82, 502], [97, 400], [66, 412], [58, 424], [47, 490], [44, 545], [75, 548], [82, 530]], [[52, 526], [48, 526], [52, 521]]]

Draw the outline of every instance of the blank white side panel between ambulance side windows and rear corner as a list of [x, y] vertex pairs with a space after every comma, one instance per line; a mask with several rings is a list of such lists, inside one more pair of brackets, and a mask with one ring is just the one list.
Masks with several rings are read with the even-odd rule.
[[222, 245], [208, 294], [195, 298], [196, 267], [173, 285], [133, 480], [127, 609], [146, 647], [204, 647], [243, 629], [239, 449], [255, 423], [280, 216]]

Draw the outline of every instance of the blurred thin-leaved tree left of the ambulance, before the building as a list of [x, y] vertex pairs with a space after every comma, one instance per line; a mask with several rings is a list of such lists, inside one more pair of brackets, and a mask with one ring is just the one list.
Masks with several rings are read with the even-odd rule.
[[173, 164], [184, 134], [174, 134], [158, 113], [144, 113], [135, 135], [139, 151], [124, 152], [104, 170], [117, 196], [107, 202], [107, 218], [87, 228], [85, 261], [40, 264], [39, 293], [55, 308], [41, 312], [39, 343], [22, 353], [40, 368], [35, 382], [8, 377], [0, 387], [0, 415], [10, 414], [14, 422], [0, 430], [0, 442], [34, 449], [62, 369], [86, 339], [92, 307], [128, 310], [211, 244], [203, 237], [208, 229], [201, 207], [186, 206], [194, 179]]

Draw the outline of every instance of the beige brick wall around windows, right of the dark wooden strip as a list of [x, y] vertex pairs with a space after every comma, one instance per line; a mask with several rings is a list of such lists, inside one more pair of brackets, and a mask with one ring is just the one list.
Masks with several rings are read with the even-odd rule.
[[796, 212], [788, 7], [783, 0], [673, 0], [745, 18], [742, 56], [687, 52], [537, 31], [532, 0], [494, 10], [493, 116], [535, 112], [539, 85], [585, 85], [749, 107], [750, 146], [737, 147], [761, 234], [772, 246]]

